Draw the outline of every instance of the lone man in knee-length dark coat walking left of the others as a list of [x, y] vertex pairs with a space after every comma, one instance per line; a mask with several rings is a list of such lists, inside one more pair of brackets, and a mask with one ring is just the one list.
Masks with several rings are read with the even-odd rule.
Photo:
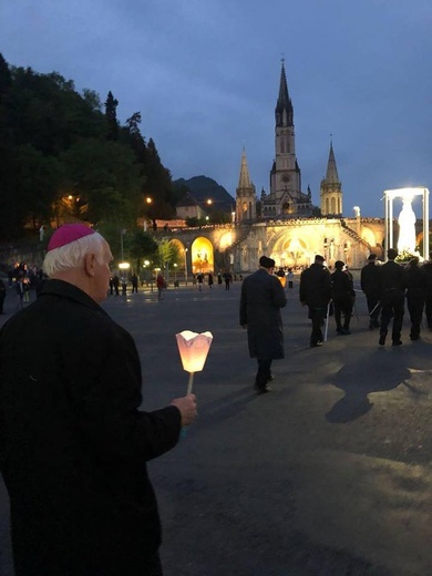
[[272, 276], [275, 260], [261, 256], [259, 269], [241, 284], [240, 326], [247, 328], [250, 358], [256, 358], [258, 370], [255, 388], [258, 394], [270, 391], [271, 362], [284, 358], [284, 330], [280, 308], [287, 304], [285, 290]]

